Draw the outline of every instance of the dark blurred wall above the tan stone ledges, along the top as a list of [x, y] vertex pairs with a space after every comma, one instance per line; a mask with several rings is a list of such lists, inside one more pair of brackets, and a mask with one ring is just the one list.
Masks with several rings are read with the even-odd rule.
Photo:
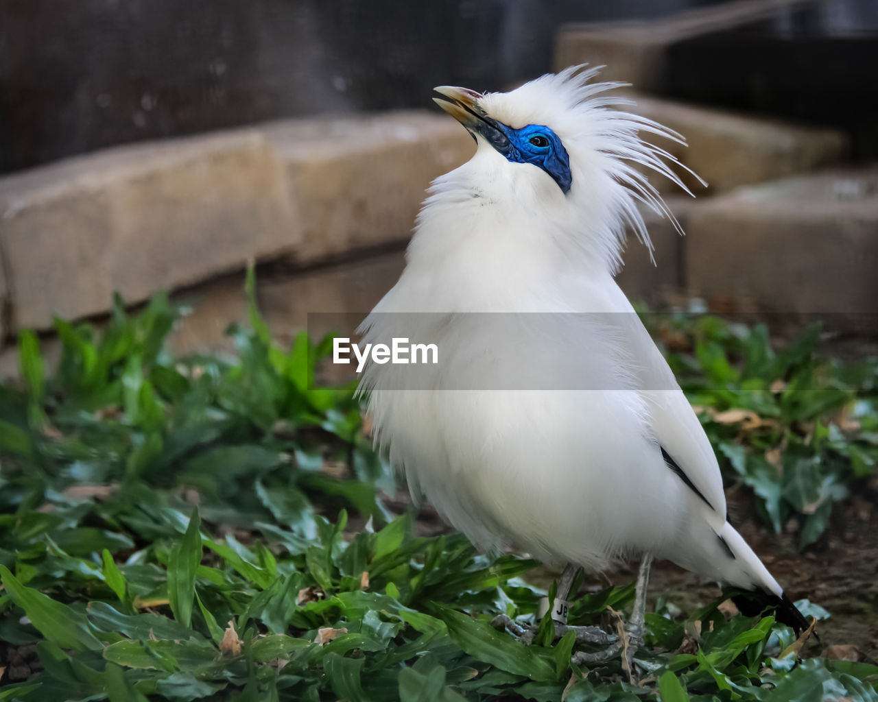
[[565, 23], [640, 19], [658, 30], [692, 9], [707, 11], [689, 15], [702, 26], [668, 38], [664, 75], [637, 88], [858, 134], [874, 125], [878, 4], [749, 2], [711, 24], [718, 5], [10, 0], [0, 172], [267, 119], [424, 108], [434, 85], [501, 90], [551, 70]]

